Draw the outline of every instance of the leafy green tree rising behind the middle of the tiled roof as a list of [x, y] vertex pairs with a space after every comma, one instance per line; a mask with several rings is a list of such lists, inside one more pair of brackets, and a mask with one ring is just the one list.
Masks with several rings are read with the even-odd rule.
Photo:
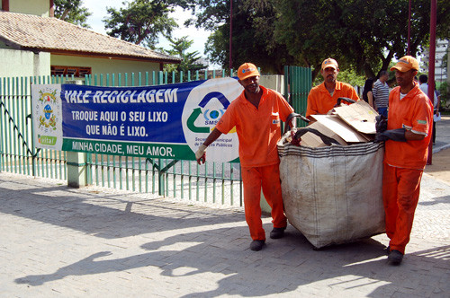
[[126, 8], [116, 10], [107, 7], [110, 17], [103, 19], [106, 33], [112, 37], [129, 41], [148, 48], [155, 48], [159, 34], [170, 37], [178, 27], [175, 20], [168, 16], [174, 11], [171, 1], [135, 0]]

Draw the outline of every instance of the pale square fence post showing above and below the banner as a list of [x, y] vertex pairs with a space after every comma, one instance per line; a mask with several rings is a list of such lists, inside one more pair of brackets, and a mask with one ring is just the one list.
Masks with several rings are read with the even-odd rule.
[[[82, 84], [82, 81], [73, 80], [65, 83]], [[87, 183], [86, 153], [67, 151], [67, 186], [69, 188], [85, 187]]]

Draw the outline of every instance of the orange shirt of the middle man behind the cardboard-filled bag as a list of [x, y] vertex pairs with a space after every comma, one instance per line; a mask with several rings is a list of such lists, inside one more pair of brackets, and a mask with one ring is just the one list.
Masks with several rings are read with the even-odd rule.
[[354, 101], [359, 101], [355, 88], [348, 83], [336, 82], [333, 96], [329, 94], [325, 83], [320, 83], [311, 89], [308, 95], [308, 106], [306, 108], [306, 117], [310, 115], [325, 115], [333, 109], [339, 97], [347, 97]]

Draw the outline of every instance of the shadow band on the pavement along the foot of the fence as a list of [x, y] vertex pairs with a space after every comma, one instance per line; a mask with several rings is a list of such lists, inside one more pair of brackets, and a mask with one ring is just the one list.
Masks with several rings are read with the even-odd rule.
[[67, 186], [55, 187], [54, 183], [33, 186], [30, 181], [21, 182], [26, 179], [11, 181], [0, 176], [0, 212], [105, 239], [245, 220], [241, 212], [189, 207], [164, 199], [133, 197], [130, 193], [96, 194], [87, 188], [81, 192]]

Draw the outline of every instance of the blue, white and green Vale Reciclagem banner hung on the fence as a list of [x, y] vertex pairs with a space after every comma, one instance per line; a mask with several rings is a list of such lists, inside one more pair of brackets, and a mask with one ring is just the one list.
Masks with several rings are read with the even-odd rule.
[[[236, 78], [141, 87], [32, 85], [33, 137], [40, 148], [194, 160], [242, 91]], [[237, 160], [232, 129], [210, 145], [207, 161]]]

